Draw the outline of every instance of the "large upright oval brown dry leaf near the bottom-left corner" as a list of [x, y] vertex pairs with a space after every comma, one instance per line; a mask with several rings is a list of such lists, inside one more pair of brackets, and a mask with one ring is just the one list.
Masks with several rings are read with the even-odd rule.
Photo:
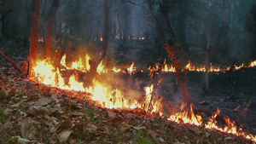
[[22, 137], [32, 140], [34, 136], [37, 134], [36, 128], [32, 124], [32, 119], [25, 118], [20, 122], [20, 131]]

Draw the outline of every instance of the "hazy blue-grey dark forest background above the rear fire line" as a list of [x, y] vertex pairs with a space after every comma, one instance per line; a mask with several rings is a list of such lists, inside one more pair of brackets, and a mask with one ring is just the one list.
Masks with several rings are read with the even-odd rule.
[[[53, 22], [53, 46], [69, 51], [85, 49], [96, 55], [102, 46], [103, 1], [42, 0], [39, 38], [45, 41], [49, 20]], [[9, 0], [2, 0], [3, 9]], [[114, 65], [135, 61], [153, 65], [168, 58], [165, 43], [178, 43], [188, 60], [203, 64], [209, 20], [209, 62], [234, 65], [256, 59], [256, 1], [214, 0], [109, 0], [108, 58]], [[32, 0], [13, 0], [0, 19], [0, 37], [15, 53], [29, 51]], [[44, 47], [44, 43], [39, 43]], [[40, 48], [40, 46], [39, 46]], [[90, 51], [90, 52], [89, 52]]]

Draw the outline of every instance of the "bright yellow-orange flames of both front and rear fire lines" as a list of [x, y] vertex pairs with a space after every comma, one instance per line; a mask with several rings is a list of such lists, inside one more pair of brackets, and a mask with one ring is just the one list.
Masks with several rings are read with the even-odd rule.
[[[61, 58], [61, 66], [65, 66], [67, 69], [76, 69], [84, 72], [88, 72], [90, 70], [89, 65], [90, 56], [86, 55], [84, 60], [79, 58], [72, 63], [71, 66], [67, 66], [66, 64], [66, 55], [63, 55]], [[256, 60], [251, 62], [248, 67], [256, 66]], [[234, 69], [241, 69], [241, 67], [246, 67], [245, 64], [241, 66], [235, 66]], [[206, 72], [205, 67], [196, 67], [192, 66], [191, 63], [184, 67], [184, 69], [195, 72]], [[230, 68], [227, 68], [227, 70]], [[88, 92], [91, 94], [90, 99], [92, 101], [96, 101], [96, 105], [100, 107], [114, 108], [114, 109], [125, 109], [132, 110], [134, 108], [143, 109], [145, 112], [155, 114], [158, 113], [162, 116], [163, 112], [165, 112], [163, 106], [164, 101], [161, 98], [154, 95], [154, 84], [147, 86], [144, 88], [144, 95], [125, 95], [123, 91], [117, 88], [111, 87], [109, 84], [102, 83], [99, 79], [93, 79], [91, 86], [85, 86], [83, 82], [79, 82], [77, 75], [72, 74], [68, 80], [65, 82], [65, 78], [63, 78], [61, 71], [58, 67], [54, 67], [49, 59], [46, 60], [38, 60], [37, 66], [33, 67], [36, 78], [34, 80], [38, 80], [39, 83], [48, 84], [53, 87], [58, 87], [60, 89], [67, 90], [76, 90], [82, 92]], [[168, 66], [165, 62], [163, 66], [157, 64], [154, 67], [154, 70], [161, 70], [161, 72], [175, 72], [175, 68], [173, 66]], [[121, 69], [116, 67], [112, 68], [113, 72], [121, 72]], [[136, 71], [136, 67], [134, 66], [134, 62], [127, 68], [128, 72]], [[219, 67], [210, 66], [209, 72], [220, 72], [221, 69]], [[97, 67], [97, 72], [108, 72], [106, 66], [101, 62], [101, 64]], [[160, 83], [160, 82], [159, 82]], [[237, 136], [242, 136], [249, 140], [256, 142], [256, 136], [251, 134], [246, 134], [242, 132], [241, 129], [236, 127], [234, 121], [231, 121], [230, 118], [224, 118], [226, 122], [226, 126], [224, 128], [218, 127], [218, 121], [216, 120], [220, 110], [217, 110], [211, 118], [209, 118], [207, 123], [203, 123], [203, 118], [201, 115], [197, 115], [194, 112], [193, 106], [189, 107], [182, 104], [180, 107], [180, 112], [172, 113], [169, 116], [168, 120], [177, 122], [178, 124], [195, 124], [198, 126], [205, 125], [205, 128], [212, 130], [219, 130], [225, 133], [230, 133]]]

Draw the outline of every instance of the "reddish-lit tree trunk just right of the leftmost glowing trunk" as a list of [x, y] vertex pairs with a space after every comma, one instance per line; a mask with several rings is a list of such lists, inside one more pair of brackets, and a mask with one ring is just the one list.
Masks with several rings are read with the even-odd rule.
[[54, 0], [51, 7], [49, 8], [49, 21], [47, 26], [46, 38], [45, 38], [45, 49], [46, 49], [46, 57], [51, 58], [52, 56], [52, 33], [53, 33], [53, 23], [55, 20], [55, 14], [59, 7], [59, 0]]

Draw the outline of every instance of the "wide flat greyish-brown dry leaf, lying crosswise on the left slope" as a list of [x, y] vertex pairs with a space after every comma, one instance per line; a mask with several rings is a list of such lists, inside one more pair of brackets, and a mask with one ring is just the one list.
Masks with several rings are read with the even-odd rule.
[[56, 112], [56, 108], [50, 108], [50, 107], [38, 107], [38, 106], [31, 106], [28, 109], [28, 113], [38, 116], [40, 114], [48, 114], [51, 115], [52, 113]]

